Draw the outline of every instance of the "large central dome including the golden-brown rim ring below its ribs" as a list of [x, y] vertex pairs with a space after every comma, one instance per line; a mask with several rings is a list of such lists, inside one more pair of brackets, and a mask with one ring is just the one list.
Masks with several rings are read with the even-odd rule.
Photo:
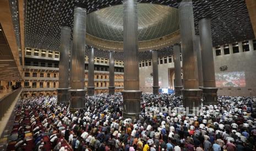
[[[170, 45], [173, 38], [171, 35], [176, 35], [179, 30], [177, 9], [148, 3], [138, 3], [137, 8], [140, 51], [154, 49], [157, 45], [158, 48], [166, 47], [167, 43]], [[86, 33], [88, 45], [122, 51], [123, 5], [107, 7], [88, 14]]]

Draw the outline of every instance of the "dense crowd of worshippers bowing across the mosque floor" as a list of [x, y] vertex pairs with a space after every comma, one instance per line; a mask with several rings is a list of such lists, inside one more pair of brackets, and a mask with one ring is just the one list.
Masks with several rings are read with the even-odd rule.
[[[175, 112], [182, 97], [142, 94], [138, 119], [122, 117], [119, 93], [86, 100], [85, 109], [75, 113], [56, 96], [22, 100], [22, 108], [30, 111], [34, 150], [46, 150], [43, 135], [50, 137], [52, 150], [68, 150], [63, 141], [73, 150], [255, 150], [255, 97], [219, 96], [214, 106], [202, 106], [200, 115], [187, 116]], [[145, 112], [163, 106], [173, 108], [171, 114]], [[38, 121], [42, 126], [35, 126]]]

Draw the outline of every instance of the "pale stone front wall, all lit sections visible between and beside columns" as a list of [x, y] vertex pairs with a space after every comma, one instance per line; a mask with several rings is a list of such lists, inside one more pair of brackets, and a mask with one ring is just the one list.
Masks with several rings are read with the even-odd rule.
[[[215, 73], [221, 72], [244, 72], [246, 76], [245, 87], [217, 87], [218, 95], [228, 96], [256, 96], [256, 50], [245, 51], [236, 54], [214, 55]], [[220, 71], [221, 66], [227, 66], [226, 71]], [[159, 65], [159, 81], [161, 79], [161, 88], [171, 88], [173, 74], [171, 71], [174, 64], [166, 63]], [[151, 77], [152, 66], [140, 67], [140, 90], [143, 92], [152, 92], [152, 86], [146, 86], [146, 78]]]

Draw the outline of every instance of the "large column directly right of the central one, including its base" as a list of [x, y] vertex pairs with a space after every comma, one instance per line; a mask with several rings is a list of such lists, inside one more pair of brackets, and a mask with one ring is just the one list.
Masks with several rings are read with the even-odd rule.
[[179, 29], [181, 31], [182, 69], [183, 69], [183, 107], [189, 113], [197, 112], [200, 108], [202, 90], [199, 89], [197, 55], [193, 38], [194, 16], [192, 0], [183, 0], [179, 3]]

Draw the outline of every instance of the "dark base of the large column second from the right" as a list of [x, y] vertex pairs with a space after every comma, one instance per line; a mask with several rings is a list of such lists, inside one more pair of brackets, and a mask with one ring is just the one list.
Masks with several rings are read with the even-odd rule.
[[199, 113], [202, 94], [201, 89], [182, 89], [183, 107], [186, 108], [186, 113], [191, 115]]

